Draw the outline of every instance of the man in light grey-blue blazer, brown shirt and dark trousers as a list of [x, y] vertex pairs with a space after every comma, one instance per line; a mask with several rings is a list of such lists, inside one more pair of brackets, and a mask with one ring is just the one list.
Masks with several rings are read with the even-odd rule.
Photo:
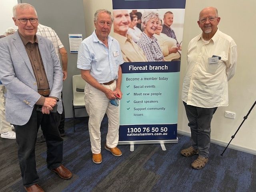
[[6, 86], [6, 119], [16, 131], [18, 159], [26, 191], [38, 186], [35, 144], [41, 125], [47, 145], [47, 167], [61, 178], [72, 173], [62, 165], [63, 140], [58, 131], [62, 113], [62, 68], [52, 42], [36, 35], [38, 17], [30, 4], [13, 8], [18, 31], [0, 40], [0, 79]]

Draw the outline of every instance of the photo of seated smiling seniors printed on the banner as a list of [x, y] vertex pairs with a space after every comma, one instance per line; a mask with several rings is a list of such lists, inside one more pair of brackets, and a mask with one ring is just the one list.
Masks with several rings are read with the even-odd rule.
[[184, 9], [113, 10], [114, 38], [124, 62], [180, 60], [184, 13]]

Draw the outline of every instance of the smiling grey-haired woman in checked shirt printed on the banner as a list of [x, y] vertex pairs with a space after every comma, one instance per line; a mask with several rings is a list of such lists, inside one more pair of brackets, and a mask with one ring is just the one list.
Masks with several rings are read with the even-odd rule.
[[157, 38], [153, 36], [158, 29], [159, 14], [154, 10], [145, 11], [141, 20], [144, 32], [137, 42], [138, 46], [142, 48], [148, 61], [163, 61], [164, 55]]

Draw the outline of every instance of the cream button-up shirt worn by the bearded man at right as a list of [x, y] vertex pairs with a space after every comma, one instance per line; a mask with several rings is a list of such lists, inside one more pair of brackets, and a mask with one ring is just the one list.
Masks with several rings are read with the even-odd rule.
[[[221, 59], [209, 63], [213, 55]], [[228, 80], [234, 76], [237, 62], [234, 40], [219, 30], [208, 42], [200, 34], [190, 41], [187, 60], [182, 100], [202, 108], [228, 106]]]

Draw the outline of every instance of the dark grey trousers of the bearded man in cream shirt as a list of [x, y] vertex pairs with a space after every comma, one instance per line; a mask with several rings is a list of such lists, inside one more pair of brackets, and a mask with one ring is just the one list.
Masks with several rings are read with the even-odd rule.
[[187, 105], [183, 102], [188, 117], [188, 126], [191, 130], [192, 146], [198, 149], [199, 155], [208, 157], [211, 136], [212, 116], [217, 110], [214, 108], [201, 108]]

